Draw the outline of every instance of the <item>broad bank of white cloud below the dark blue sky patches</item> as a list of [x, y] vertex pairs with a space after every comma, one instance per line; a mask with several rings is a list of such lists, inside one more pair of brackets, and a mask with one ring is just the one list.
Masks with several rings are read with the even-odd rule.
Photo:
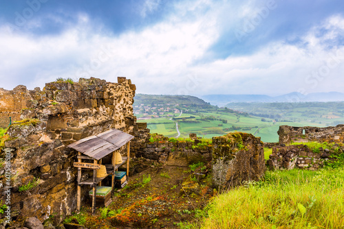
[[[158, 1], [146, 3], [144, 15], [158, 7]], [[324, 44], [326, 40], [343, 36], [343, 17], [333, 16], [323, 25], [310, 29], [301, 36], [302, 45], [280, 40], [250, 55], [204, 63], [198, 61], [217, 41], [222, 29], [235, 27], [230, 21], [237, 15], [235, 8], [233, 5], [224, 8], [221, 3], [211, 4], [206, 0], [182, 4], [178, 3], [176, 8], [184, 10], [176, 11], [168, 20], [120, 36], [105, 35], [100, 29], [94, 29], [92, 20], [85, 14], [78, 16], [78, 24], [57, 36], [37, 38], [0, 27], [1, 87], [12, 89], [18, 84], [43, 87], [45, 82], [57, 77], [99, 77], [116, 82], [117, 76], [126, 76], [137, 84], [138, 93], [343, 91], [343, 59], [325, 77], [312, 76], [313, 71], [326, 64], [329, 53], [337, 49], [344, 53], [343, 48], [329, 50]], [[225, 20], [223, 15], [229, 8], [232, 11]], [[248, 12], [252, 10], [247, 9], [242, 16]], [[319, 36], [323, 28], [327, 32]]]

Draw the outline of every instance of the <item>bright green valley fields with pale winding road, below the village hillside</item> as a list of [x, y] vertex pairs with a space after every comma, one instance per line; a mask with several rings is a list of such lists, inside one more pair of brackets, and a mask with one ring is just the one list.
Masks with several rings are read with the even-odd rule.
[[[196, 114], [182, 114], [180, 118], [195, 117], [194, 119], [179, 119], [178, 127], [180, 130], [180, 137], [187, 138], [190, 133], [195, 133], [197, 136], [203, 138], [212, 138], [213, 136], [222, 136], [228, 132], [247, 132], [261, 137], [261, 141], [264, 142], [278, 142], [279, 125], [294, 125], [294, 126], [325, 126], [321, 124], [311, 123], [309, 121], [300, 122], [274, 122], [274, 119], [266, 118], [266, 121], [262, 121], [261, 117], [246, 116], [239, 114], [232, 114], [228, 112], [200, 112]], [[215, 117], [215, 119], [225, 119], [227, 123], [223, 123], [219, 120], [204, 120], [204, 117]], [[203, 117], [203, 119], [202, 119]], [[138, 122], [146, 122], [151, 133], [164, 134], [165, 136], [175, 137], [178, 135], [175, 129], [175, 121], [158, 118], [138, 120]], [[233, 126], [235, 130], [233, 130]], [[226, 130], [230, 129], [230, 130]]]

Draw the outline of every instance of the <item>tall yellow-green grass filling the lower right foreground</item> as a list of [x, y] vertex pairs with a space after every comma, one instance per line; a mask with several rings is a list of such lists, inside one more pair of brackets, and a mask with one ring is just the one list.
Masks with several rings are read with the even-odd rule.
[[344, 228], [344, 169], [268, 171], [219, 195], [184, 228]]

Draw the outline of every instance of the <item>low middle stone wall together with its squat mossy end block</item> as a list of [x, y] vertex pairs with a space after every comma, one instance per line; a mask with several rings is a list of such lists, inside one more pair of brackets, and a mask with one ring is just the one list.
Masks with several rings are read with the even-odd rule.
[[[142, 123], [147, 125], [146, 123]], [[191, 141], [169, 141], [161, 136], [158, 141], [149, 138], [135, 144], [136, 156], [149, 162], [164, 165], [189, 166], [196, 162], [212, 162], [215, 188], [227, 189], [246, 180], [259, 180], [264, 176], [264, 143], [252, 134], [241, 132], [213, 137], [212, 143], [199, 145], [202, 141], [191, 134]], [[135, 169], [142, 169], [142, 162]], [[200, 175], [200, 174], [199, 174]]]

